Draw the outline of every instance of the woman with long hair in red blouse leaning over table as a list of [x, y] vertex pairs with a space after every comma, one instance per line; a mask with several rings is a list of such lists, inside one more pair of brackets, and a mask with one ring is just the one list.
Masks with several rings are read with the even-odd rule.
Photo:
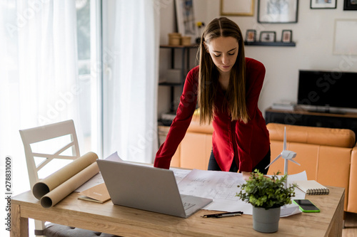
[[176, 117], [156, 153], [154, 167], [169, 169], [198, 102], [200, 122], [212, 122], [214, 130], [208, 170], [259, 169], [266, 174], [270, 142], [258, 110], [263, 64], [245, 58], [241, 30], [225, 17], [213, 19], [206, 26], [199, 53], [199, 65], [187, 74]]

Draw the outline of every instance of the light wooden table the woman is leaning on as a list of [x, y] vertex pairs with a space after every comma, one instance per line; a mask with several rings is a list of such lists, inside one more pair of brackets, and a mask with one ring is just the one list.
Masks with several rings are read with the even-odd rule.
[[[279, 230], [269, 236], [341, 236], [344, 189], [330, 188], [330, 194], [306, 196], [320, 213], [281, 218]], [[30, 191], [11, 201], [11, 237], [29, 236], [28, 218], [66, 226], [113, 233], [120, 236], [266, 236], [253, 230], [252, 216], [201, 218], [216, 211], [201, 210], [189, 218], [77, 199], [72, 193], [54, 207], [44, 209]], [[170, 235], [170, 236], [171, 236]]]

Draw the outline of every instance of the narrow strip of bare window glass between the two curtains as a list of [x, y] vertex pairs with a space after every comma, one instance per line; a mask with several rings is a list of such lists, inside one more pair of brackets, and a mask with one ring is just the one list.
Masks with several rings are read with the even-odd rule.
[[81, 154], [101, 153], [101, 5], [100, 1], [76, 0], [79, 117], [84, 137]]

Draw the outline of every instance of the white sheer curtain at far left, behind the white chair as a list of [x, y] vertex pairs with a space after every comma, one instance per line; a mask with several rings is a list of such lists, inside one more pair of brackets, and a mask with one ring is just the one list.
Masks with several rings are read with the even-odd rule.
[[19, 130], [73, 119], [81, 134], [75, 1], [1, 0], [0, 39], [1, 179], [10, 156], [15, 195], [30, 188]]

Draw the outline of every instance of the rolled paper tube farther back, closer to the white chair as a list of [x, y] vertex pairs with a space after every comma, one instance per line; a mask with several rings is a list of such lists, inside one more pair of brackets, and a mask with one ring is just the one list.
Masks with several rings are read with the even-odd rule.
[[98, 159], [98, 156], [94, 152], [88, 152], [83, 156], [74, 159], [73, 162], [54, 172], [54, 174], [51, 174], [34, 184], [32, 193], [36, 199], [41, 199], [41, 197], [49, 193], [49, 191], [54, 190], [56, 186], [63, 184], [64, 181], [74, 177], [75, 174], [78, 174], [81, 170], [96, 162], [96, 159]]

